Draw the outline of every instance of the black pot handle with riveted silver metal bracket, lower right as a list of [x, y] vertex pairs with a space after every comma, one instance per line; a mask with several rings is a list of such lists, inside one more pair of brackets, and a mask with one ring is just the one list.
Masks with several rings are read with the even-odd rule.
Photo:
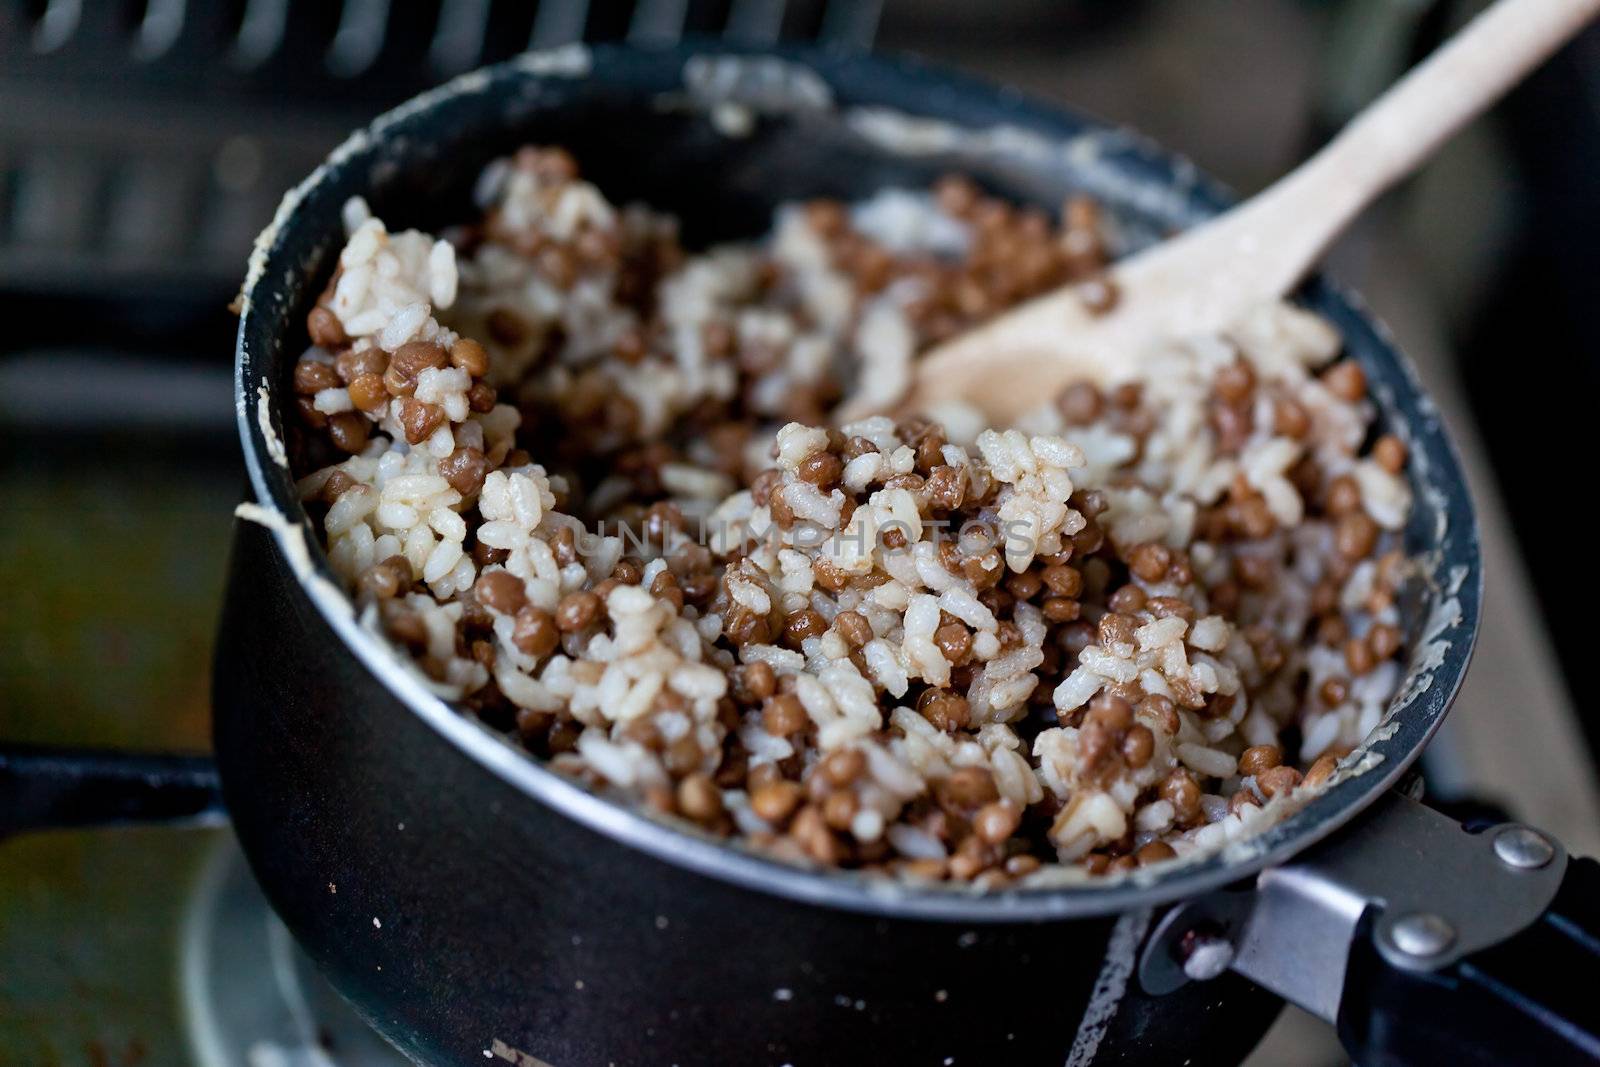
[[1242, 891], [1176, 905], [1139, 963], [1163, 993], [1232, 968], [1392, 1064], [1600, 1061], [1600, 864], [1390, 793]]

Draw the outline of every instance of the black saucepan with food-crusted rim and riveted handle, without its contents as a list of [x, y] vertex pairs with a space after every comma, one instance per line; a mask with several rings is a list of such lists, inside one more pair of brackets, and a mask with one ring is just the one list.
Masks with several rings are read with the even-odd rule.
[[1360, 766], [1248, 848], [1146, 881], [990, 896], [802, 870], [586, 792], [402, 670], [336, 590], [275, 458], [277, 398], [346, 198], [395, 226], [459, 221], [483, 163], [525, 142], [573, 149], [611, 198], [680, 214], [691, 243], [763, 232], [782, 200], [952, 170], [1050, 208], [1086, 190], [1130, 246], [1227, 202], [1138, 136], [1006, 90], [715, 45], [469, 75], [296, 189], [243, 294], [259, 522], [240, 523], [232, 560], [216, 753], [269, 899], [378, 1030], [437, 1064], [1222, 1064], [1282, 995], [1338, 1021], [1362, 1062], [1600, 1054], [1592, 982], [1554, 977], [1597, 973], [1595, 864], [1526, 827], [1466, 833], [1394, 789], [1466, 672], [1477, 531], [1411, 368], [1325, 282], [1301, 299], [1342, 331], [1414, 458], [1410, 677]]

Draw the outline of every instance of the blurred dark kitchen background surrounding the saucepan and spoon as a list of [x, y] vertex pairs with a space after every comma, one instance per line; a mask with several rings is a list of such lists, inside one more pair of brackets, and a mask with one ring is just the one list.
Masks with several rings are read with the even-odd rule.
[[[280, 194], [429, 85], [579, 38], [909, 50], [1125, 122], [1253, 192], [1477, 6], [0, 0], [0, 744], [208, 745], [242, 493], [227, 302]], [[1600, 851], [1600, 715], [1584, 688], [1600, 603], [1584, 518], [1597, 165], [1589, 34], [1333, 261], [1418, 362], [1483, 525], [1488, 609], [1427, 758], [1430, 793], [1587, 853]], [[0, 1065], [390, 1057], [304, 969], [226, 829], [0, 841]], [[1286, 1014], [1256, 1059], [1341, 1054]]]

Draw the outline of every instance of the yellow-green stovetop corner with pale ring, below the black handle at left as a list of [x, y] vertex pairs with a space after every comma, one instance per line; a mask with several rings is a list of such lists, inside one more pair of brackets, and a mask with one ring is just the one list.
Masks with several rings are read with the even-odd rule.
[[0, 1064], [403, 1067], [218, 830], [37, 835], [0, 862]]

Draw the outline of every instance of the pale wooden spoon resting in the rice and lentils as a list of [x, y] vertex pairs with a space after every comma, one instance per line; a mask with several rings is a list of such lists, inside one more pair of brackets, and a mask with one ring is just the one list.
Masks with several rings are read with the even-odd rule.
[[1498, 0], [1259, 195], [1109, 270], [1094, 315], [1069, 286], [923, 355], [907, 411], [963, 400], [997, 422], [1074, 381], [1126, 381], [1157, 341], [1218, 333], [1288, 294], [1360, 211], [1499, 99], [1595, 14], [1600, 0]]

